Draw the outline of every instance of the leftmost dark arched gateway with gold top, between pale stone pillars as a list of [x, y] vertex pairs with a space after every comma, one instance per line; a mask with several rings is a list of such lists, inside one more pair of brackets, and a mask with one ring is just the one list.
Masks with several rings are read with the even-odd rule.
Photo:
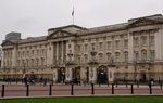
[[58, 82], [64, 82], [65, 81], [65, 68], [61, 67], [58, 69]]

